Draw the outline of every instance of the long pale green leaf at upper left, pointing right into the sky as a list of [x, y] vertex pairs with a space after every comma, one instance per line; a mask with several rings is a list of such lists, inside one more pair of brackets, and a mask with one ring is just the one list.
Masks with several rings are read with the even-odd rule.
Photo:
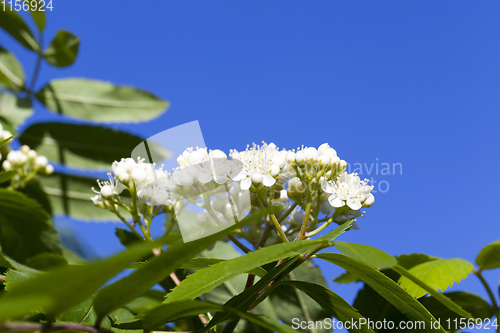
[[51, 81], [36, 97], [52, 111], [92, 121], [145, 121], [168, 107], [149, 92], [87, 79]]

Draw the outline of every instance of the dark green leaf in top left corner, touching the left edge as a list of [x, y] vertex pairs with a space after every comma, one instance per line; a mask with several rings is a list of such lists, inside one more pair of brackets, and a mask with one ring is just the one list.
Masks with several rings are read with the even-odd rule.
[[0, 10], [0, 28], [16, 39], [21, 45], [32, 51], [38, 51], [39, 47], [22, 17], [5, 3], [5, 10]]

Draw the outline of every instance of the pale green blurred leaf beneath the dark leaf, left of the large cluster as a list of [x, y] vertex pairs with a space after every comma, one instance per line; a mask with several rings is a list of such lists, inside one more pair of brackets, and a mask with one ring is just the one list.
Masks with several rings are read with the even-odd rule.
[[[62, 187], [63, 178], [65, 179], [66, 191], [63, 191]], [[50, 198], [54, 214], [66, 214], [73, 218], [94, 222], [119, 221], [115, 214], [107, 209], [96, 207], [90, 200], [95, 195], [91, 190], [92, 187], [98, 188], [94, 178], [53, 173], [41, 177], [39, 180]], [[67, 211], [64, 208], [65, 200]]]

